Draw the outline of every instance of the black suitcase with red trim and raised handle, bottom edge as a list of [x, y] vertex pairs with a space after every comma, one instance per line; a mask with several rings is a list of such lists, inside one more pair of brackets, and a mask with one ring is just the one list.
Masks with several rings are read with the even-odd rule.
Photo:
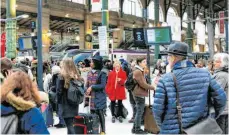
[[[90, 97], [89, 106], [90, 106]], [[99, 116], [96, 114], [79, 113], [73, 121], [75, 134], [99, 134]]]

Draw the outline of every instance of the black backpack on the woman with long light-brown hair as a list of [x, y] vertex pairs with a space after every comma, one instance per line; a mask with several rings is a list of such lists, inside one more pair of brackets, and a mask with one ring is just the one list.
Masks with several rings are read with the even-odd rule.
[[84, 99], [84, 84], [78, 80], [71, 80], [67, 92], [67, 101], [72, 105], [79, 105]]

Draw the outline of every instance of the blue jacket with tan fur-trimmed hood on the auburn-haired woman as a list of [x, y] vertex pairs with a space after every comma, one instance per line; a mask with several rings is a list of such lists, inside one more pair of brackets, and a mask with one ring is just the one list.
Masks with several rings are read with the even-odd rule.
[[[4, 88], [2, 88], [4, 90]], [[8, 103], [9, 102], [9, 103]], [[36, 104], [16, 97], [12, 92], [7, 95], [7, 102], [1, 103], [1, 117], [20, 114], [19, 131], [25, 134], [49, 134], [42, 114]]]

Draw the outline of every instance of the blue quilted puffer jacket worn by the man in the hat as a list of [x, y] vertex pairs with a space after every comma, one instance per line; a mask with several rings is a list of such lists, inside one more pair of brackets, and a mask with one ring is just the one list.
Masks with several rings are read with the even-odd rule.
[[[179, 88], [183, 128], [208, 116], [209, 97], [214, 101], [216, 117], [219, 116], [226, 104], [226, 94], [207, 70], [197, 69], [190, 61], [184, 60], [177, 62], [172, 72], [176, 75]], [[179, 134], [176, 90], [171, 73], [159, 80], [153, 113], [160, 127], [160, 134]]]

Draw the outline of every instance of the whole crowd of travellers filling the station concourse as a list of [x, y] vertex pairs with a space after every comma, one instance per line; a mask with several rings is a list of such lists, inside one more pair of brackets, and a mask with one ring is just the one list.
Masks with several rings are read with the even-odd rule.
[[[139, 57], [127, 62], [103, 59], [95, 55], [90, 68], [82, 62], [75, 65], [72, 59], [43, 63], [44, 89], [39, 92], [36, 83], [37, 62], [16, 62], [1, 58], [1, 116], [16, 114], [19, 128], [11, 133], [49, 134], [48, 118], [44, 118], [41, 106], [46, 102], [59, 117], [57, 128], [67, 127], [74, 134], [74, 117], [79, 114], [79, 104], [72, 105], [67, 99], [71, 80], [84, 84], [85, 107], [99, 117], [100, 134], [106, 133], [107, 99], [110, 100], [112, 119], [123, 122], [123, 100], [128, 91], [133, 115], [133, 134], [146, 134], [141, 129], [144, 123], [145, 99], [148, 91], [154, 93], [152, 113], [160, 134], [181, 134], [200, 120], [207, 118], [210, 106], [214, 108], [214, 119], [223, 134], [228, 134], [228, 59], [226, 53], [217, 53], [212, 60], [199, 59], [197, 63], [187, 58], [188, 46], [174, 43], [168, 48], [167, 60], [158, 60], [152, 81], [147, 68], [147, 59]], [[87, 68], [87, 70], [85, 70]], [[83, 77], [82, 72], [87, 72]], [[133, 88], [126, 82], [133, 79]], [[41, 96], [45, 93], [49, 98]], [[152, 95], [151, 95], [152, 96]], [[212, 101], [212, 102], [211, 102]], [[116, 110], [117, 105], [117, 112]], [[181, 109], [181, 116], [178, 114]], [[53, 116], [52, 116], [53, 117]], [[182, 117], [180, 120], [179, 117]], [[13, 130], [13, 129], [12, 129]]]

